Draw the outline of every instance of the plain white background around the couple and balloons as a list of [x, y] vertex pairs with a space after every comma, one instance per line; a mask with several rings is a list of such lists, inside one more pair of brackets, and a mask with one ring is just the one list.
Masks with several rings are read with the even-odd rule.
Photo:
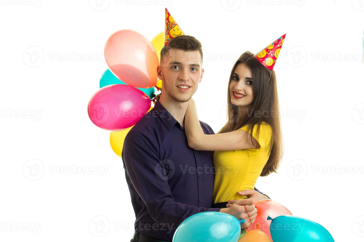
[[130, 241], [122, 160], [87, 104], [107, 69], [107, 38], [133, 29], [151, 40], [164, 31], [165, 7], [202, 43], [205, 74], [193, 98], [215, 132], [234, 61], [287, 33], [275, 67], [284, 158], [256, 186], [335, 241], [364, 240], [363, 0], [0, 4], [1, 241]]

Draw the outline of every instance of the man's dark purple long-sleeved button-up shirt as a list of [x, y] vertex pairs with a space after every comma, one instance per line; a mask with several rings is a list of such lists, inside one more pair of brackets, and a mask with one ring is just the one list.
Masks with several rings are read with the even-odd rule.
[[[205, 134], [214, 134], [201, 122]], [[135, 230], [172, 241], [178, 225], [211, 208], [214, 151], [188, 146], [185, 129], [158, 101], [128, 132], [122, 151]]]

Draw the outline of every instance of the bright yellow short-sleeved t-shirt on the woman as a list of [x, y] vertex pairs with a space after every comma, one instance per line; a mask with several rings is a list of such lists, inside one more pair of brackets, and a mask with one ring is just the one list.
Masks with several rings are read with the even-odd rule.
[[[213, 203], [247, 198], [247, 196], [240, 196], [237, 192], [254, 189], [257, 179], [268, 161], [270, 155], [269, 143], [272, 139], [272, 128], [268, 123], [261, 123], [259, 138], [257, 137], [257, 126], [257, 124], [254, 125], [252, 135], [260, 144], [259, 149], [214, 152], [216, 173]], [[240, 129], [249, 132], [248, 125]]]

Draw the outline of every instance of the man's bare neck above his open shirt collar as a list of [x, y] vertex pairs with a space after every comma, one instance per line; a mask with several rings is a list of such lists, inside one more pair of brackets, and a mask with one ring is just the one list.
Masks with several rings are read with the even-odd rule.
[[177, 122], [181, 124], [181, 126], [185, 126], [185, 115], [188, 102], [177, 102], [168, 95], [163, 95], [162, 93], [161, 97], [159, 98], [159, 103], [161, 103], [162, 106], [166, 108], [168, 112], [170, 112], [173, 118], [175, 118]]

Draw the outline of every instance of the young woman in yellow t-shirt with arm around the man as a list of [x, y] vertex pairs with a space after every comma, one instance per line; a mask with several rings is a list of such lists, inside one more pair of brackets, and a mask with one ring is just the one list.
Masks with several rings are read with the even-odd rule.
[[191, 148], [215, 151], [215, 205], [247, 198], [237, 192], [254, 189], [259, 176], [276, 172], [283, 153], [278, 111], [276, 75], [250, 52], [243, 53], [231, 71], [228, 122], [218, 134], [203, 133], [190, 99], [185, 132]]

